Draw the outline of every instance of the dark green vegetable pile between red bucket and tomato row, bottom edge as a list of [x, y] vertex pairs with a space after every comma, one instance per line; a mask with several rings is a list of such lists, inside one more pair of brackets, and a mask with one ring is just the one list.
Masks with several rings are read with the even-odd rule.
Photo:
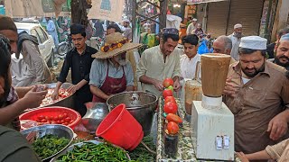
[[[152, 137], [144, 137], [143, 142], [148, 148], [151, 148], [154, 151], [156, 150]], [[156, 160], [156, 155], [148, 151], [141, 143], [133, 151], [129, 152], [129, 157], [132, 159], [132, 161], [136, 162]]]

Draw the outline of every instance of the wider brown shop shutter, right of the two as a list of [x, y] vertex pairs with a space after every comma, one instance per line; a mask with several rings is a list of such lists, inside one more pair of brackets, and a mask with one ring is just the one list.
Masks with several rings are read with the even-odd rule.
[[243, 34], [258, 35], [264, 0], [231, 0], [227, 35], [233, 33], [234, 25], [243, 25]]

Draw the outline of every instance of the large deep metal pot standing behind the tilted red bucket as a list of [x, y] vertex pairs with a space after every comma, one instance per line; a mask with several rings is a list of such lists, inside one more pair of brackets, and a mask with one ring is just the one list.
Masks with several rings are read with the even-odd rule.
[[151, 131], [157, 100], [157, 96], [153, 93], [132, 91], [109, 97], [107, 99], [107, 105], [108, 108], [112, 110], [118, 104], [125, 103], [128, 112], [142, 125], [144, 136], [146, 136]]

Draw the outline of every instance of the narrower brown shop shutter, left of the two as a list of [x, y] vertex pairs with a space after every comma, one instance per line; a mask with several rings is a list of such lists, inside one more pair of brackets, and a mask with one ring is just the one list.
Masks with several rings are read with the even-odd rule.
[[209, 3], [207, 32], [213, 37], [226, 35], [229, 1]]

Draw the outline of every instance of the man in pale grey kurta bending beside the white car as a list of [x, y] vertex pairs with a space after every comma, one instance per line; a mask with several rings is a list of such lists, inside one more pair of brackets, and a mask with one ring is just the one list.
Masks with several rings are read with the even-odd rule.
[[[36, 37], [26, 31], [19, 34], [16, 58], [12, 60], [14, 86], [28, 86], [51, 81], [50, 71], [38, 49]], [[19, 58], [20, 52], [23, 58]], [[23, 59], [23, 60], [22, 60]]]

